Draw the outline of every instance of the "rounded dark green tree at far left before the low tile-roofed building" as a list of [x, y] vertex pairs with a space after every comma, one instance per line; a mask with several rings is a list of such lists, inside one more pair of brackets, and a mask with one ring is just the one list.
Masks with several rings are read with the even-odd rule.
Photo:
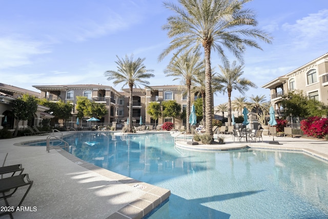
[[16, 130], [14, 136], [17, 136], [18, 124], [20, 121], [29, 120], [34, 116], [37, 110], [37, 99], [34, 96], [24, 94], [13, 101], [12, 113], [16, 119]]

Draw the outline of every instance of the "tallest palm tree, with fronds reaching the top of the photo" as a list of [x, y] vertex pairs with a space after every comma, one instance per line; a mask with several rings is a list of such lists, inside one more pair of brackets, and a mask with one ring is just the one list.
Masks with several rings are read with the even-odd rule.
[[177, 50], [177, 54], [189, 47], [203, 47], [206, 75], [206, 133], [213, 137], [212, 130], [212, 72], [211, 50], [219, 53], [223, 63], [228, 58], [223, 48], [232, 52], [242, 61], [245, 47], [261, 49], [254, 39], [271, 43], [271, 37], [255, 28], [257, 21], [252, 10], [244, 9], [243, 5], [251, 0], [179, 0], [182, 8], [165, 2], [175, 16], [168, 18], [163, 26], [168, 36], [173, 38], [170, 46], [164, 50], [159, 60]]

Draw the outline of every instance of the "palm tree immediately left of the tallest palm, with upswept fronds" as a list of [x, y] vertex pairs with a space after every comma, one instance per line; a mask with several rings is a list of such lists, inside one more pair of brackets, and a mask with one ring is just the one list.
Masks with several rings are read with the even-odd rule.
[[187, 133], [190, 133], [190, 91], [191, 84], [195, 78], [195, 75], [203, 70], [203, 63], [200, 57], [199, 51], [187, 51], [182, 53], [180, 56], [174, 56], [171, 62], [169, 63], [167, 69], [164, 70], [164, 73], [167, 76], [174, 76], [173, 81], [176, 79], [181, 79], [182, 84], [187, 85]]

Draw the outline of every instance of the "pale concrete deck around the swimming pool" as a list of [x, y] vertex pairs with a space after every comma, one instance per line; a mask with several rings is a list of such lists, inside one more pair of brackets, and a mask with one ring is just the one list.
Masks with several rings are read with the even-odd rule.
[[[148, 132], [150, 133], [150, 132]], [[273, 137], [263, 135], [263, 143], [233, 142], [225, 135], [226, 144], [207, 145], [216, 150], [251, 147], [305, 152], [328, 161], [328, 142], [308, 138], [275, 137], [279, 145], [269, 144]], [[34, 181], [23, 205], [36, 211], [13, 213], [14, 218], [142, 218], [160, 202], [167, 200], [168, 189], [162, 189], [84, 162], [61, 149], [46, 152], [45, 147], [20, 146], [47, 136], [24, 136], [0, 140], [0, 154], [8, 153], [5, 166], [23, 164], [24, 173]], [[178, 141], [182, 147], [190, 147]], [[221, 148], [220, 148], [221, 147]], [[209, 149], [209, 148], [208, 148]], [[0, 156], [1, 158], [1, 156]], [[2, 161], [0, 161], [1, 163]], [[9, 199], [17, 201], [22, 191]], [[0, 206], [4, 206], [0, 200]], [[9, 215], [2, 218], [9, 218]]]

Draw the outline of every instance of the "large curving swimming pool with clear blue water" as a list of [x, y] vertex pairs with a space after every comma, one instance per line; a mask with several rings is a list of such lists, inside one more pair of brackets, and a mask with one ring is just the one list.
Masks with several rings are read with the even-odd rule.
[[328, 164], [301, 153], [182, 151], [168, 133], [66, 138], [75, 156], [170, 189], [150, 218], [327, 218]]

